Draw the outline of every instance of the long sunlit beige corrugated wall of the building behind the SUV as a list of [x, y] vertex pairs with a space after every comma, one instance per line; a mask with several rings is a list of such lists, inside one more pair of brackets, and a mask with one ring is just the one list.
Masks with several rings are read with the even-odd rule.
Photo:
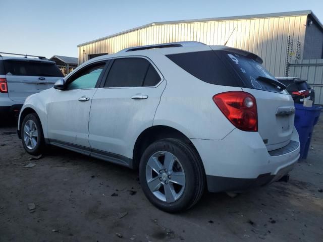
[[[245, 49], [263, 58], [264, 66], [275, 76], [284, 76], [288, 36], [301, 45], [305, 39], [307, 15], [241, 20], [206, 21], [152, 25], [79, 47], [80, 64], [88, 54], [115, 53], [124, 48], [177, 41], [199, 41], [208, 45], [227, 45]], [[83, 54], [83, 49], [85, 54]]]

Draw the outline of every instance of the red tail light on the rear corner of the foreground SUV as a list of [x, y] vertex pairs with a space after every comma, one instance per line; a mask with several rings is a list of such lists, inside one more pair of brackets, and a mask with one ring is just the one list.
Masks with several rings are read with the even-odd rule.
[[213, 96], [223, 114], [238, 129], [258, 131], [256, 99], [242, 91], [223, 92]]

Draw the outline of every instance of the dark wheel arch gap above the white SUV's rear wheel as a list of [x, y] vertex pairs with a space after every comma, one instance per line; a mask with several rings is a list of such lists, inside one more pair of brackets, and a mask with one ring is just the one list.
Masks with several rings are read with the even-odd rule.
[[[133, 156], [132, 156], [133, 168], [134, 169], [138, 168], [141, 156], [142, 156], [143, 152], [145, 151], [145, 149], [150, 144], [152, 144], [153, 142], [155, 142], [157, 140], [169, 139], [169, 138], [179, 139], [179, 140], [187, 143], [189, 146], [191, 146], [195, 150], [196, 154], [198, 155], [198, 157], [201, 161], [201, 164], [203, 165], [203, 162], [201, 160], [201, 157], [200, 157], [197, 149], [195, 148], [193, 143], [190, 141], [190, 139], [185, 134], [183, 134], [179, 130], [172, 128], [170, 126], [156, 125], [156, 126], [151, 126], [147, 129], [145, 129], [138, 136], [138, 138], [135, 142], [135, 145], [134, 145], [134, 149], [133, 149]], [[204, 169], [204, 166], [203, 166], [203, 169]]]

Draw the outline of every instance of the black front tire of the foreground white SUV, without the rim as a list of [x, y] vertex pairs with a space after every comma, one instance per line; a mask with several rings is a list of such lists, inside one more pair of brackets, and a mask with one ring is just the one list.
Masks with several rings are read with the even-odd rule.
[[[36, 131], [37, 131], [37, 139], [36, 139], [37, 143], [33, 148], [28, 147], [28, 142], [26, 144], [26, 141], [24, 139], [24, 133], [25, 133], [24, 127], [25, 127], [26, 123], [29, 122], [29, 120], [32, 120], [32, 122], [35, 124]], [[21, 132], [21, 142], [22, 142], [22, 145], [24, 146], [25, 150], [31, 155], [41, 154], [43, 151], [43, 147], [45, 145], [45, 141], [44, 141], [44, 135], [42, 132], [42, 127], [41, 127], [39, 118], [36, 113], [30, 113], [24, 117], [24, 120], [23, 120], [21, 127], [20, 127], [20, 132]]]

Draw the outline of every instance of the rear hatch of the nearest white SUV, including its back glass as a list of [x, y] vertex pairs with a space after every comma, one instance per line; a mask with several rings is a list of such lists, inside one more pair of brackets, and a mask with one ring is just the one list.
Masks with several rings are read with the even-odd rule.
[[[218, 52], [218, 51], [217, 51]], [[292, 97], [253, 54], [221, 51], [224, 61], [241, 78], [242, 90], [256, 98], [258, 132], [268, 151], [289, 144], [294, 127], [295, 107]]]

